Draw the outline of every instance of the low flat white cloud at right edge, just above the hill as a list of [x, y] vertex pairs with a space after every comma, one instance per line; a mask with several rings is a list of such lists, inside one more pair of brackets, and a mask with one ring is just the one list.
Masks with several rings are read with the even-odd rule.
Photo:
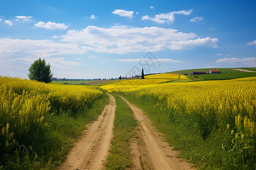
[[249, 57], [249, 58], [221, 58], [218, 59], [216, 62], [227, 62], [229, 64], [244, 64], [249, 66], [256, 66], [256, 58]]

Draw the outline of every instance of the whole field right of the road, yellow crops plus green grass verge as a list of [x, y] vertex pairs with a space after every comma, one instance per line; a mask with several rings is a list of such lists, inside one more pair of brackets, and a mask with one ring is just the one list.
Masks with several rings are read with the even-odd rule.
[[[203, 169], [254, 169], [255, 77], [119, 88], [181, 156]], [[119, 92], [118, 92], [119, 91]]]

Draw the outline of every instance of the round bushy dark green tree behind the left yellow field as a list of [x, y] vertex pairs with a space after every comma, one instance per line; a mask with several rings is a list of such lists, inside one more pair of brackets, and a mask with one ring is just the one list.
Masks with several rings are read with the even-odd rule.
[[34, 63], [31, 64], [30, 68], [28, 69], [30, 73], [28, 74], [28, 78], [31, 80], [37, 80], [38, 82], [44, 82], [49, 83], [51, 82], [51, 77], [53, 74], [51, 74], [51, 66], [46, 65], [46, 61], [41, 58], [34, 61]]

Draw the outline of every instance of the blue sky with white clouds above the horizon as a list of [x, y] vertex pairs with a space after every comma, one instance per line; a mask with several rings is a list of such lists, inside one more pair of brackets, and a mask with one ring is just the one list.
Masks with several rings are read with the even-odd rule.
[[256, 1], [0, 1], [0, 75], [57, 78], [256, 67]]

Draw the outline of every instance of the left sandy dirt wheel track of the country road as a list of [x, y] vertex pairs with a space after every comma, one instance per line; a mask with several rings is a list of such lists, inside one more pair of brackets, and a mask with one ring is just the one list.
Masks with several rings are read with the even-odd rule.
[[81, 139], [69, 152], [67, 159], [59, 169], [104, 169], [106, 156], [110, 147], [110, 140], [113, 137], [113, 122], [115, 113], [114, 96], [108, 94], [109, 104]]

